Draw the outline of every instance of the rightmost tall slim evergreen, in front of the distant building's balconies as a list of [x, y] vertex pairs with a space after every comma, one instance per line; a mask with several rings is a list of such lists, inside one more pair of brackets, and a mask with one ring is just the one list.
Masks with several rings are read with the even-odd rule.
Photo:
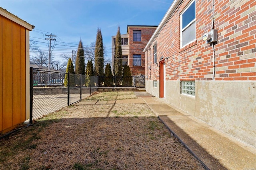
[[121, 83], [122, 77], [122, 46], [121, 46], [121, 34], [120, 27], [118, 26], [117, 34], [116, 34], [116, 46], [114, 53], [114, 75], [116, 76], [116, 84], [119, 86]]

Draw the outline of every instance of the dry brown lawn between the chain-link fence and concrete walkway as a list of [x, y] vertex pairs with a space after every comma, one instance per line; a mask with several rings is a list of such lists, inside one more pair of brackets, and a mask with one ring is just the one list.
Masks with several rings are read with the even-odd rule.
[[0, 169], [204, 169], [146, 104], [66, 107], [0, 142]]

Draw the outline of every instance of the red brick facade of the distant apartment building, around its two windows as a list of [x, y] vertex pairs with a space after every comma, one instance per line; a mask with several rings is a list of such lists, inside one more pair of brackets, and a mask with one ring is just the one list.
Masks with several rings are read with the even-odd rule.
[[[141, 30], [141, 42], [133, 41], [133, 30]], [[152, 34], [156, 30], [156, 27], [130, 27], [128, 30], [129, 34], [129, 66], [131, 69], [132, 75], [145, 75], [145, 53], [143, 52], [144, 47], [150, 40]], [[141, 55], [141, 66], [133, 65], [133, 55]]]

